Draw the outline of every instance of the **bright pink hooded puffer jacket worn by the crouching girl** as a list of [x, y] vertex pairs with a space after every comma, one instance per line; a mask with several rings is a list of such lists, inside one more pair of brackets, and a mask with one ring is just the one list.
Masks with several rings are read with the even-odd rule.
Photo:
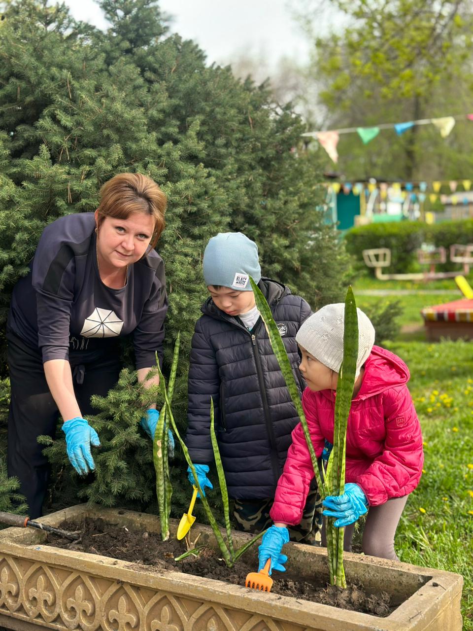
[[[397, 355], [373, 346], [365, 363], [363, 383], [352, 401], [345, 481], [358, 484], [371, 506], [411, 493], [422, 475], [422, 433], [406, 386], [409, 376], [406, 364]], [[302, 405], [319, 457], [325, 439], [334, 440], [334, 392], [306, 388]], [[300, 423], [292, 439], [270, 514], [275, 522], [295, 525], [301, 521], [313, 469]]]

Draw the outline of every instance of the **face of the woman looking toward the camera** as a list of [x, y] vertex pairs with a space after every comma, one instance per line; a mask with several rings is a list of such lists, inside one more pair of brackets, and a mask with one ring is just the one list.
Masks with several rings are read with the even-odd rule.
[[154, 229], [155, 218], [144, 213], [132, 213], [127, 219], [105, 217], [97, 234], [99, 264], [120, 269], [139, 261], [148, 249]]

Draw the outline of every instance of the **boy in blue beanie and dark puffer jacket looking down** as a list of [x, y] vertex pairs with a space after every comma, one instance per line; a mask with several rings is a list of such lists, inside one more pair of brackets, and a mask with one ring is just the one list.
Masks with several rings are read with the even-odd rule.
[[[271, 525], [277, 480], [283, 472], [291, 432], [299, 422], [264, 323], [249, 276], [271, 307], [293, 367], [298, 370], [296, 333], [311, 314], [307, 302], [268, 278], [261, 278], [257, 245], [240, 232], [219, 233], [204, 251], [204, 280], [210, 297], [196, 323], [189, 369], [186, 444], [205, 493], [213, 461], [210, 401], [228, 495], [235, 500], [237, 529], [260, 533]], [[188, 469], [189, 481], [194, 476]], [[312, 490], [303, 519], [289, 534], [293, 541], [320, 541], [320, 497]]]

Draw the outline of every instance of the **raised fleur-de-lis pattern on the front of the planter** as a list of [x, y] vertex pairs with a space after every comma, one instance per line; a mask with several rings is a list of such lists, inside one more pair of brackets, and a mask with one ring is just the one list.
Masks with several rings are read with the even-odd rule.
[[0, 614], [58, 630], [305, 631], [217, 603], [3, 554]]

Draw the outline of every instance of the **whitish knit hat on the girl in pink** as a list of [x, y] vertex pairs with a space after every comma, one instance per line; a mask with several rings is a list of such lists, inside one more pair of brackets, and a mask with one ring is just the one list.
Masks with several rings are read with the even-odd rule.
[[[358, 360], [355, 379], [375, 343], [375, 329], [370, 318], [358, 307], [356, 312], [358, 313]], [[308, 317], [296, 334], [296, 342], [300, 346], [335, 372], [339, 372], [343, 361], [344, 319], [344, 303], [326, 305]]]

